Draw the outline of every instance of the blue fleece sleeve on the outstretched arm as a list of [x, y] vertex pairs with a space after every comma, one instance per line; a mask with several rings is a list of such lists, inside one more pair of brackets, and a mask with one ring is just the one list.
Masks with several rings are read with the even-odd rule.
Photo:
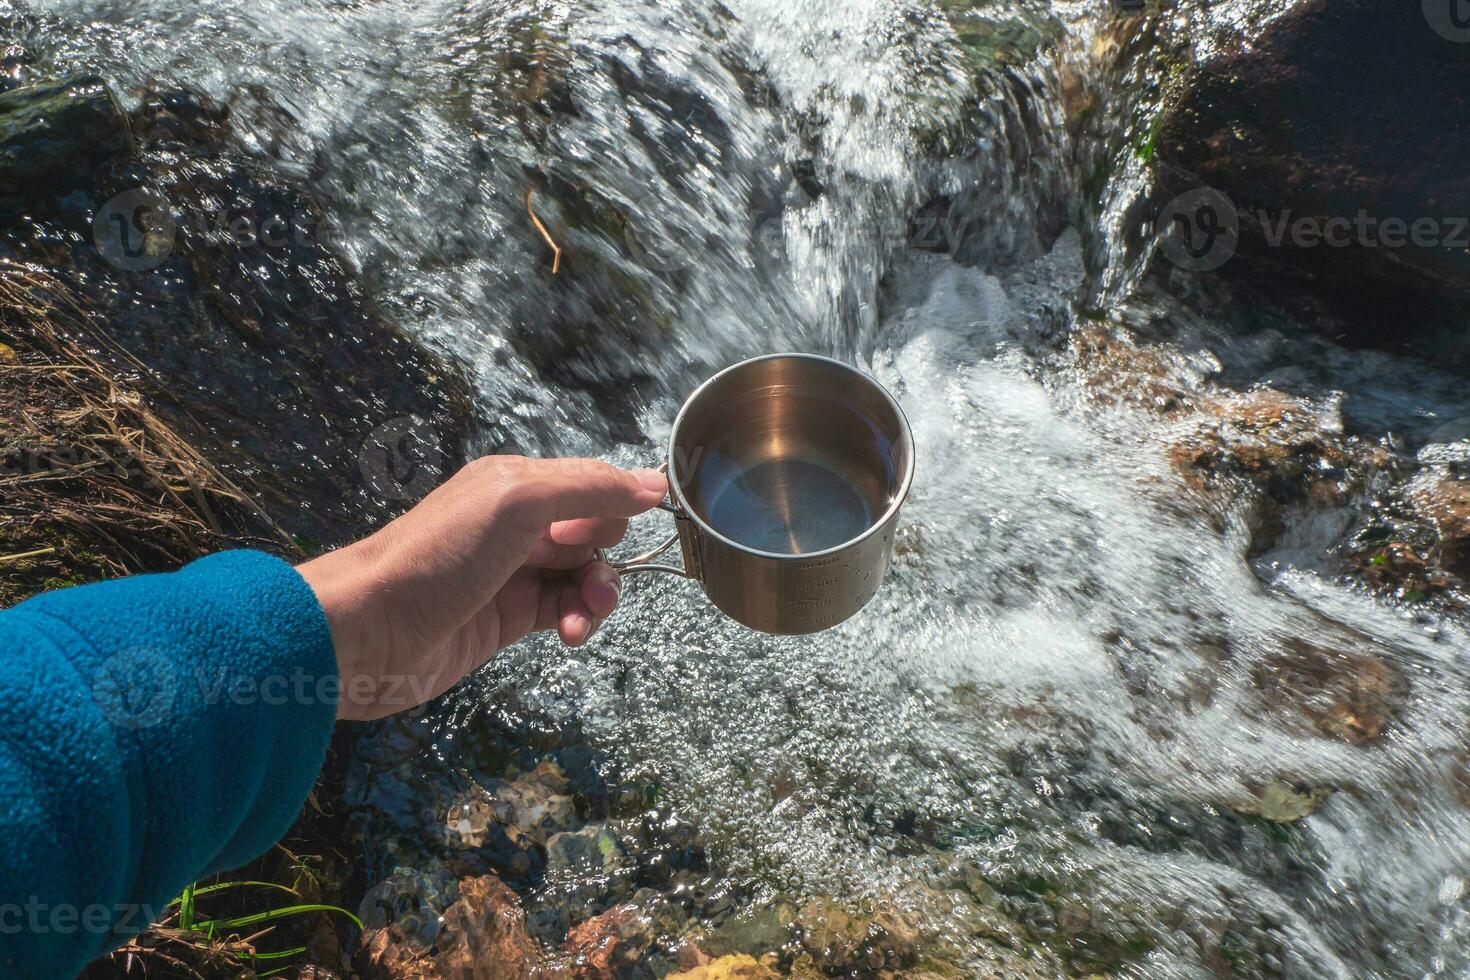
[[335, 695], [315, 594], [256, 551], [0, 613], [0, 977], [74, 977], [269, 848]]

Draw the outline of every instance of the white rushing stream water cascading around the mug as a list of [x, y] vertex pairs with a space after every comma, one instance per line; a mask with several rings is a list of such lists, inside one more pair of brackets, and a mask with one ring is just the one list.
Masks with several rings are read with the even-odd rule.
[[[742, 902], [892, 902], [976, 974], [995, 946], [973, 874], [1045, 882], [1029, 890], [1061, 912], [1004, 905], [1028, 936], [1070, 912], [1073, 933], [1136, 946], [1127, 974], [1464, 976], [1464, 621], [1336, 576], [1330, 508], [1294, 511], [1266, 554], [1244, 516], [1201, 520], [1166, 453], [1186, 423], [1101, 404], [1061, 339], [1091, 306], [1169, 322], [1195, 391], [1285, 385], [1329, 429], [1423, 441], [1470, 408], [1386, 356], [1273, 331], [1216, 344], [1227, 311], [1145, 279], [1145, 167], [1123, 153], [1091, 198], [1113, 150], [1063, 118], [1078, 91], [1102, 97], [1104, 129], [1141, 112], [1129, 87], [1148, 79], [1100, 54], [1104, 6], [1029, 9], [1061, 41], [978, 103], [919, 0], [35, 10], [50, 63], [234, 101], [251, 150], [348, 229], [373, 297], [467, 366], [481, 448], [647, 464], [692, 383], [773, 350], [853, 360], [908, 414], [898, 552], [854, 620], [760, 636], [641, 579], [585, 649], [525, 642], [448, 698], [438, 764], [513, 691], [663, 788]], [[1247, 10], [1204, 7], [1222, 29]], [[556, 275], [532, 188], [567, 245]], [[975, 222], [963, 262], [906, 247], [941, 192]], [[1392, 666], [1386, 735], [1324, 738], [1263, 695], [1260, 670], [1302, 644]], [[1273, 783], [1336, 792], [1289, 826], [1235, 815]]]

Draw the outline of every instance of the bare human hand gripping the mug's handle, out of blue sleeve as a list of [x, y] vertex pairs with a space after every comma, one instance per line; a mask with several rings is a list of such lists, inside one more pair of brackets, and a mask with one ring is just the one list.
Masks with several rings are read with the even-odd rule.
[[622, 591], [594, 550], [666, 492], [657, 470], [488, 455], [372, 536], [300, 566], [332, 627], [337, 717], [423, 704], [526, 633], [587, 642]]

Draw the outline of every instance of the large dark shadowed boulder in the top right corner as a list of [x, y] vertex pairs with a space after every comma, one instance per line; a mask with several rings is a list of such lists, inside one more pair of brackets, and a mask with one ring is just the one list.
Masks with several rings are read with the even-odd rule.
[[[1183, 26], [1154, 162], [1160, 201], [1205, 185], [1233, 203], [1239, 250], [1220, 275], [1333, 339], [1466, 364], [1470, 44], [1452, 7], [1313, 0], [1208, 43]], [[1341, 244], [1282, 237], [1283, 219], [1336, 220]]]

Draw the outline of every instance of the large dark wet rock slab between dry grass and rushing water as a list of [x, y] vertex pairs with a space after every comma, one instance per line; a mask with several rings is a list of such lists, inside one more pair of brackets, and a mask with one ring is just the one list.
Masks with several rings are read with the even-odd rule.
[[[47, 104], [53, 120], [81, 113], [71, 128], [101, 154], [126, 145], [101, 132], [104, 101], [88, 82]], [[154, 411], [304, 551], [362, 536], [457, 469], [467, 385], [363, 298], [328, 212], [207, 100], [148, 96], [131, 122], [131, 156], [53, 173], [32, 200], [54, 206], [0, 219], [16, 257], [107, 323], [126, 351], [104, 345], [107, 366], [141, 370]]]

